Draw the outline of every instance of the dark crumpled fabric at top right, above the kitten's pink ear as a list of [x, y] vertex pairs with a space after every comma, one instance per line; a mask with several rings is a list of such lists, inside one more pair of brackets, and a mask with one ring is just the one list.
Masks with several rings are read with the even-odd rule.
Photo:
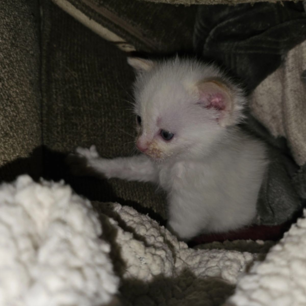
[[193, 44], [207, 60], [235, 73], [248, 90], [282, 62], [287, 51], [306, 39], [302, 2], [200, 6]]

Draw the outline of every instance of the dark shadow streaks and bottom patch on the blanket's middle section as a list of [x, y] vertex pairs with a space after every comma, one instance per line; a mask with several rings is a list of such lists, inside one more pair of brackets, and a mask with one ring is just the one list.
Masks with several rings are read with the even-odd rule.
[[[215, 305], [221, 305], [233, 294], [235, 285], [216, 277], [207, 278], [205, 276], [205, 278], [201, 278], [188, 269], [183, 269], [172, 277], [157, 275], [150, 281], [127, 278], [125, 272], [130, 267], [126, 267], [126, 263], [122, 259], [122, 248], [116, 240], [118, 230], [110, 223], [109, 217], [118, 222], [119, 228], [124, 232], [132, 233], [133, 237], [142, 241], [146, 247], [150, 247], [150, 245], [147, 244], [145, 237], [137, 234], [133, 227], [128, 226], [120, 215], [112, 210], [111, 206], [108, 207], [104, 203], [101, 205], [98, 202], [92, 204], [94, 210], [98, 212], [103, 227], [102, 239], [111, 245], [110, 259], [114, 271], [121, 278], [119, 292], [122, 305], [169, 305], [177, 304], [183, 300], [188, 300], [192, 305], [198, 301], [201, 302], [201, 305], [211, 304], [212, 301]], [[173, 249], [170, 241], [164, 242], [171, 250]], [[172, 251], [173, 258], [175, 258], [175, 250]], [[190, 265], [192, 266], [192, 263]]]

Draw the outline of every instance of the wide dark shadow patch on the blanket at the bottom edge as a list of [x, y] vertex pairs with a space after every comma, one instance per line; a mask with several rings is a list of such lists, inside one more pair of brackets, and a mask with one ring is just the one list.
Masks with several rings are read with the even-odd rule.
[[183, 270], [176, 277], [157, 276], [150, 282], [123, 280], [120, 292], [123, 305], [222, 305], [234, 292], [234, 285], [221, 279], [196, 277]]

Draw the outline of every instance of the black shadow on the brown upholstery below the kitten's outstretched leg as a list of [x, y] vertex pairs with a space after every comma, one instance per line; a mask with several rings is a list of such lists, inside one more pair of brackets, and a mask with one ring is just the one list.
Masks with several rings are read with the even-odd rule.
[[[91, 201], [118, 202], [122, 205], [131, 206], [142, 214], [147, 214], [150, 218], [165, 226], [166, 220], [153, 209], [143, 207], [128, 198], [119, 197], [113, 190], [107, 179], [93, 176], [74, 176], [70, 174], [65, 163], [68, 153], [50, 150], [46, 146], [36, 147], [28, 158], [18, 158], [0, 167], [0, 181], [12, 182], [21, 174], [28, 174], [36, 182], [42, 177], [46, 180], [64, 180], [66, 184], [80, 196]], [[124, 182], [122, 181], [124, 184]]]

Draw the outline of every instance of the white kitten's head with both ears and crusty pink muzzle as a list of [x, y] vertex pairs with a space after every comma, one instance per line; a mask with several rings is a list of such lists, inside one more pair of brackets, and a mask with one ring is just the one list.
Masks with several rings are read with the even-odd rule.
[[213, 65], [179, 58], [128, 62], [137, 74], [136, 146], [155, 160], [203, 156], [242, 118], [242, 90]]

